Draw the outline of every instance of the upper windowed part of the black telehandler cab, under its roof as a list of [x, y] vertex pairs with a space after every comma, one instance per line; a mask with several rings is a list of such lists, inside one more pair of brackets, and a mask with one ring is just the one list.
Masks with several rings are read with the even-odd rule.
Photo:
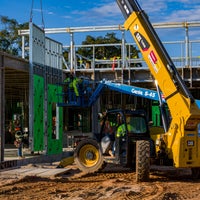
[[[109, 110], [103, 116], [100, 124], [101, 138], [105, 135], [129, 136], [136, 140], [150, 137], [147, 119], [143, 111]], [[121, 130], [120, 127], [122, 127]]]

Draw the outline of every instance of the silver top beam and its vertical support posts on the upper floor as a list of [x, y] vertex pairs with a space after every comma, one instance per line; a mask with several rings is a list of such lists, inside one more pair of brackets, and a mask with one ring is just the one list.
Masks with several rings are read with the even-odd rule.
[[[182, 58], [184, 60], [184, 65], [185, 66], [191, 66], [192, 65], [192, 59], [191, 59], [191, 46], [194, 42], [200, 43], [200, 41], [190, 41], [189, 40], [189, 28], [192, 27], [200, 27], [200, 22], [170, 22], [170, 23], [154, 23], [153, 27], [155, 29], [174, 29], [174, 28], [183, 28], [185, 29], [185, 40], [184, 41], [179, 41], [181, 45], [184, 45], [185, 48], [185, 56]], [[126, 64], [126, 58], [125, 58], [125, 46], [126, 45], [131, 45], [127, 44], [125, 42], [125, 29], [123, 25], [112, 25], [112, 26], [87, 26], [87, 27], [67, 27], [67, 28], [46, 28], [44, 29], [45, 34], [61, 34], [61, 33], [66, 33], [70, 35], [70, 44], [68, 46], [65, 46], [64, 48], [68, 48], [70, 51], [70, 61], [69, 61], [69, 66], [68, 71], [75, 71], [78, 70], [76, 68], [77, 61], [76, 61], [76, 55], [75, 55], [75, 49], [77, 47], [86, 47], [86, 45], [75, 45], [74, 41], [74, 33], [85, 33], [85, 32], [102, 32], [102, 31], [120, 31], [122, 33], [122, 42], [121, 44], [107, 44], [107, 45], [121, 45], [121, 63], [122, 63], [122, 68]], [[22, 41], [24, 41], [24, 36], [29, 35], [30, 31], [29, 30], [19, 30], [19, 35], [22, 36]], [[178, 41], [176, 41], [178, 43]], [[175, 43], [175, 42], [173, 42]], [[168, 43], [169, 44], [169, 43]], [[104, 46], [107, 46], [103, 44]], [[88, 45], [92, 46], [93, 49], [95, 47], [100, 46], [100, 45]], [[24, 42], [22, 42], [22, 58], [24, 58], [24, 52], [25, 52], [25, 46]], [[93, 50], [94, 52], [94, 50]], [[177, 61], [177, 58], [173, 58], [175, 61]], [[180, 59], [180, 58], [179, 58]], [[99, 61], [98, 61], [99, 62]], [[109, 60], [106, 61], [109, 63]], [[129, 62], [132, 62], [131, 60]], [[105, 61], [102, 60], [102, 64], [104, 64]], [[93, 55], [93, 60], [92, 60], [92, 68], [95, 68], [96, 60], [95, 60], [95, 55]], [[87, 70], [87, 69], [85, 69]], [[98, 71], [98, 69], [95, 69]], [[101, 69], [99, 69], [101, 70]], [[103, 69], [107, 70], [107, 69]], [[89, 70], [91, 71], [91, 70]]]

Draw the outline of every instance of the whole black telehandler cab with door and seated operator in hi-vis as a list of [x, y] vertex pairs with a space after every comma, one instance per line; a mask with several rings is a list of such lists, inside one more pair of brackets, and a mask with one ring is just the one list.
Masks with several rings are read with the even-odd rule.
[[109, 110], [104, 115], [100, 132], [100, 144], [104, 155], [113, 157], [116, 163], [133, 165], [137, 140], [150, 140], [144, 112]]

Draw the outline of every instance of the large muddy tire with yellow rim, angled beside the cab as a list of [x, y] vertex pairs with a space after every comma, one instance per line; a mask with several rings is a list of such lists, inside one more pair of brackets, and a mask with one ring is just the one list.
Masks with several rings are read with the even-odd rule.
[[74, 162], [84, 173], [94, 173], [102, 169], [103, 154], [97, 141], [93, 139], [80, 141], [74, 151]]

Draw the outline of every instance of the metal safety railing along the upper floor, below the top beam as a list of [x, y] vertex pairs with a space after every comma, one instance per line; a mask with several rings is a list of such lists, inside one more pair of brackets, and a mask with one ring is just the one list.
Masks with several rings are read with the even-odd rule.
[[[163, 42], [166, 50], [172, 58], [175, 66], [177, 68], [184, 67], [200, 67], [200, 40], [189, 41], [187, 44], [185, 41], [170, 41]], [[98, 48], [110, 48], [118, 47], [121, 49], [121, 55], [116, 55], [110, 58], [97, 59], [96, 50]], [[91, 49], [93, 52], [90, 57], [82, 56], [76, 54], [78, 49]], [[91, 44], [91, 45], [74, 45], [74, 70], [119, 70], [119, 69], [132, 69], [132, 68], [147, 68], [146, 63], [142, 59], [140, 53], [138, 57], [133, 58], [131, 49], [137, 49], [135, 43], [126, 43], [123, 52], [122, 43], [115, 44]], [[70, 46], [65, 46], [64, 49], [70, 54]], [[70, 56], [69, 56], [70, 57]], [[68, 65], [66, 65], [66, 70], [70, 70], [70, 60], [65, 60]]]

